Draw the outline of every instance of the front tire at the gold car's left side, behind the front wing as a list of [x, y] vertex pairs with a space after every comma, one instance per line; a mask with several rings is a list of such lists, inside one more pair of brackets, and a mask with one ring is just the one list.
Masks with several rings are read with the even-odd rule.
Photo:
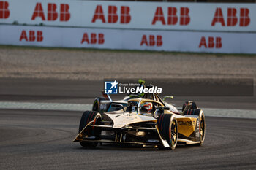
[[[99, 112], [83, 112], [83, 115], [80, 119], [78, 133], [80, 133], [80, 131], [82, 131], [83, 128], [86, 127], [86, 125], [93, 120], [95, 125], [99, 124], [102, 121], [102, 116]], [[86, 134], [88, 134], [88, 136], [95, 136], [97, 138], [101, 134], [101, 129], [95, 127], [88, 127], [86, 128]], [[80, 145], [83, 147], [97, 147], [97, 144], [98, 142], [80, 142]]]

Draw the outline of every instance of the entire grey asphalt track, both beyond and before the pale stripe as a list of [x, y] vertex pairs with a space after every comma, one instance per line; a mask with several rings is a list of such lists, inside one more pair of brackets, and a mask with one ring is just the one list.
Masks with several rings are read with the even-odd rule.
[[[96, 82], [0, 82], [1, 101], [91, 103], [98, 95], [92, 93], [98, 91]], [[255, 97], [197, 99], [203, 107], [255, 109]], [[179, 144], [172, 151], [113, 144], [85, 149], [72, 142], [81, 115], [0, 109], [0, 169], [256, 169], [255, 119], [206, 117], [203, 146]]]

